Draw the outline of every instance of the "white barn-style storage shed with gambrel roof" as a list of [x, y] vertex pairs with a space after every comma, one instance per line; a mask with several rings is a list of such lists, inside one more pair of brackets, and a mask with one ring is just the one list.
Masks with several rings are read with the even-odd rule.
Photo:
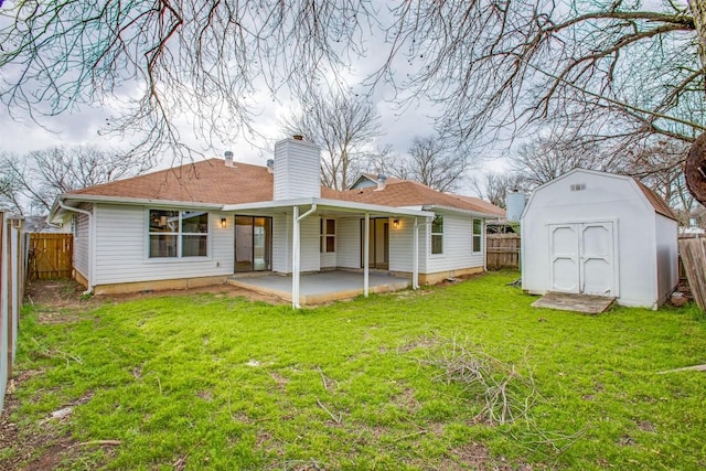
[[522, 288], [656, 309], [678, 281], [677, 227], [666, 203], [637, 180], [575, 169], [527, 201]]

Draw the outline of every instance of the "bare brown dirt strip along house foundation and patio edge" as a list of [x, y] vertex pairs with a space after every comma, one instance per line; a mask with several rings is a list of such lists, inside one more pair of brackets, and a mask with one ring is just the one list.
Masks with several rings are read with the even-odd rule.
[[190, 296], [196, 293], [214, 293], [228, 298], [243, 297], [250, 301], [263, 301], [270, 304], [284, 304], [280, 298], [261, 295], [232, 285], [213, 285], [201, 288], [175, 289], [164, 291], [142, 291], [125, 295], [85, 296], [85, 288], [72, 280], [32, 281], [25, 291], [25, 302], [41, 304], [46, 309], [40, 312], [40, 322], [63, 323], [78, 319], [75, 313], [67, 311], [87, 311], [105, 303], [119, 303], [135, 299], [147, 299], [161, 296]]

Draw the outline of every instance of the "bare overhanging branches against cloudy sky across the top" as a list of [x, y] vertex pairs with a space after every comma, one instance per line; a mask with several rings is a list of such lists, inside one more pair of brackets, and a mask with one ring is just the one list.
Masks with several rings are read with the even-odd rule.
[[6, 3], [8, 108], [119, 103], [114, 128], [141, 132], [149, 154], [183, 147], [185, 111], [199, 136], [227, 141], [249, 129], [260, 89], [314, 96], [372, 46], [384, 60], [368, 85], [431, 100], [458, 142], [550, 122], [618, 153], [706, 131], [703, 0]]

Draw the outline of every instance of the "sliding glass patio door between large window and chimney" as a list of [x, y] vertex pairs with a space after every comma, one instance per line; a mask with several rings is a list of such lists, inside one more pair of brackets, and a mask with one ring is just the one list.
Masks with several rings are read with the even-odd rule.
[[272, 218], [235, 216], [235, 272], [271, 270]]

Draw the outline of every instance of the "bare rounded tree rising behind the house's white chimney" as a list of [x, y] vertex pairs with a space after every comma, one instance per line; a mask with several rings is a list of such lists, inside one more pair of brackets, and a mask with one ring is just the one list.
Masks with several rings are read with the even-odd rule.
[[323, 149], [321, 181], [344, 190], [361, 171], [366, 148], [381, 135], [373, 104], [351, 93], [314, 94], [301, 113], [284, 120], [289, 135], [301, 135]]

